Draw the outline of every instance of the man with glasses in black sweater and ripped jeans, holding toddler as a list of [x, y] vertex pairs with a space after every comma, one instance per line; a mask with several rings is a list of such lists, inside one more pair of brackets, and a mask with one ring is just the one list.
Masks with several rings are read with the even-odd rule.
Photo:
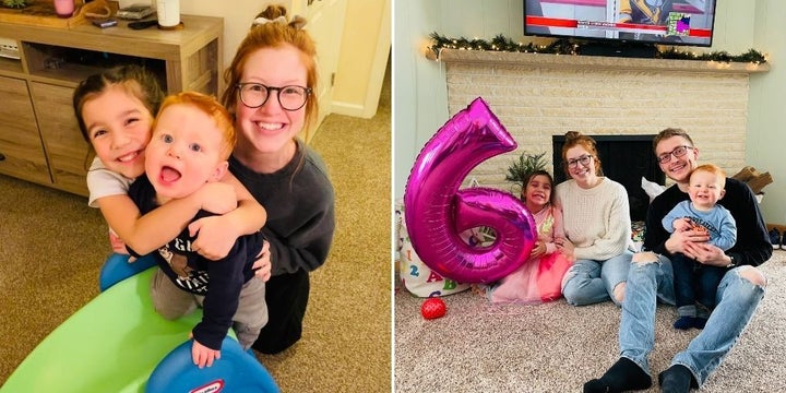
[[622, 303], [619, 330], [620, 358], [599, 379], [584, 384], [584, 392], [626, 392], [652, 385], [647, 355], [655, 343], [655, 306], [675, 305], [670, 258], [683, 253], [695, 261], [726, 269], [718, 285], [717, 306], [704, 330], [671, 366], [658, 374], [662, 392], [688, 392], [699, 388], [739, 338], [764, 296], [766, 278], [755, 266], [772, 257], [764, 219], [751, 189], [726, 179], [726, 194], [718, 203], [737, 223], [737, 242], [727, 251], [706, 243], [701, 230], [667, 233], [662, 219], [681, 201], [689, 200], [691, 171], [699, 150], [683, 130], [666, 129], [653, 141], [660, 169], [676, 184], [653, 200], [647, 212], [643, 251], [633, 255]]

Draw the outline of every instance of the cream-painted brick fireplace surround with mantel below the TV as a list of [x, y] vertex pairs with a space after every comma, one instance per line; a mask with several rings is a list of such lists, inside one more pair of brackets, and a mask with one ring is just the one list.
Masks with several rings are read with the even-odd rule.
[[473, 170], [509, 190], [504, 175], [522, 152], [547, 152], [552, 135], [644, 135], [676, 127], [701, 160], [734, 175], [745, 166], [748, 79], [767, 64], [443, 49], [451, 116], [483, 97], [519, 143]]

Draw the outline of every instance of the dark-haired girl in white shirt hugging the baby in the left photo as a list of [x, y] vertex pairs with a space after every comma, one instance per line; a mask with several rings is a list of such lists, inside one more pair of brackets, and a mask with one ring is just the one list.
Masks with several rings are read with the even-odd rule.
[[[258, 231], [266, 219], [264, 209], [233, 176], [145, 216], [128, 196], [131, 182], [144, 172], [144, 150], [163, 98], [155, 76], [138, 66], [91, 75], [76, 87], [76, 120], [96, 154], [87, 172], [88, 204], [100, 209], [110, 233], [117, 234], [110, 235], [116, 252], [127, 253], [124, 242], [140, 254], [174, 239], [200, 209], [228, 212], [189, 225], [192, 234], [199, 231], [192, 248], [205, 258], [221, 259], [238, 236]], [[260, 274], [270, 269], [264, 264]]]

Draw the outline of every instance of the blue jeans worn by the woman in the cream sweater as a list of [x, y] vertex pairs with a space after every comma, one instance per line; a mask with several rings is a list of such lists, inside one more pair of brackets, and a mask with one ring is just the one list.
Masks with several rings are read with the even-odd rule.
[[606, 261], [577, 260], [562, 279], [562, 295], [569, 305], [585, 306], [606, 300], [619, 301], [614, 289], [628, 278], [633, 253], [624, 251]]

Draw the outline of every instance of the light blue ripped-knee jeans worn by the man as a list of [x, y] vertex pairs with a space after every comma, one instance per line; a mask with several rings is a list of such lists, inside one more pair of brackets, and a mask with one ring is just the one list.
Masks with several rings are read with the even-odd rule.
[[[751, 266], [728, 271], [715, 295], [716, 307], [704, 330], [690, 342], [688, 348], [671, 359], [671, 365], [687, 367], [701, 386], [720, 365], [737, 343], [742, 330], [753, 317], [764, 288], [740, 277]], [[656, 299], [675, 303], [674, 274], [668, 258], [658, 255], [657, 262], [631, 263], [622, 302], [619, 344], [620, 356], [634, 361], [652, 374], [647, 355], [655, 346]]]

